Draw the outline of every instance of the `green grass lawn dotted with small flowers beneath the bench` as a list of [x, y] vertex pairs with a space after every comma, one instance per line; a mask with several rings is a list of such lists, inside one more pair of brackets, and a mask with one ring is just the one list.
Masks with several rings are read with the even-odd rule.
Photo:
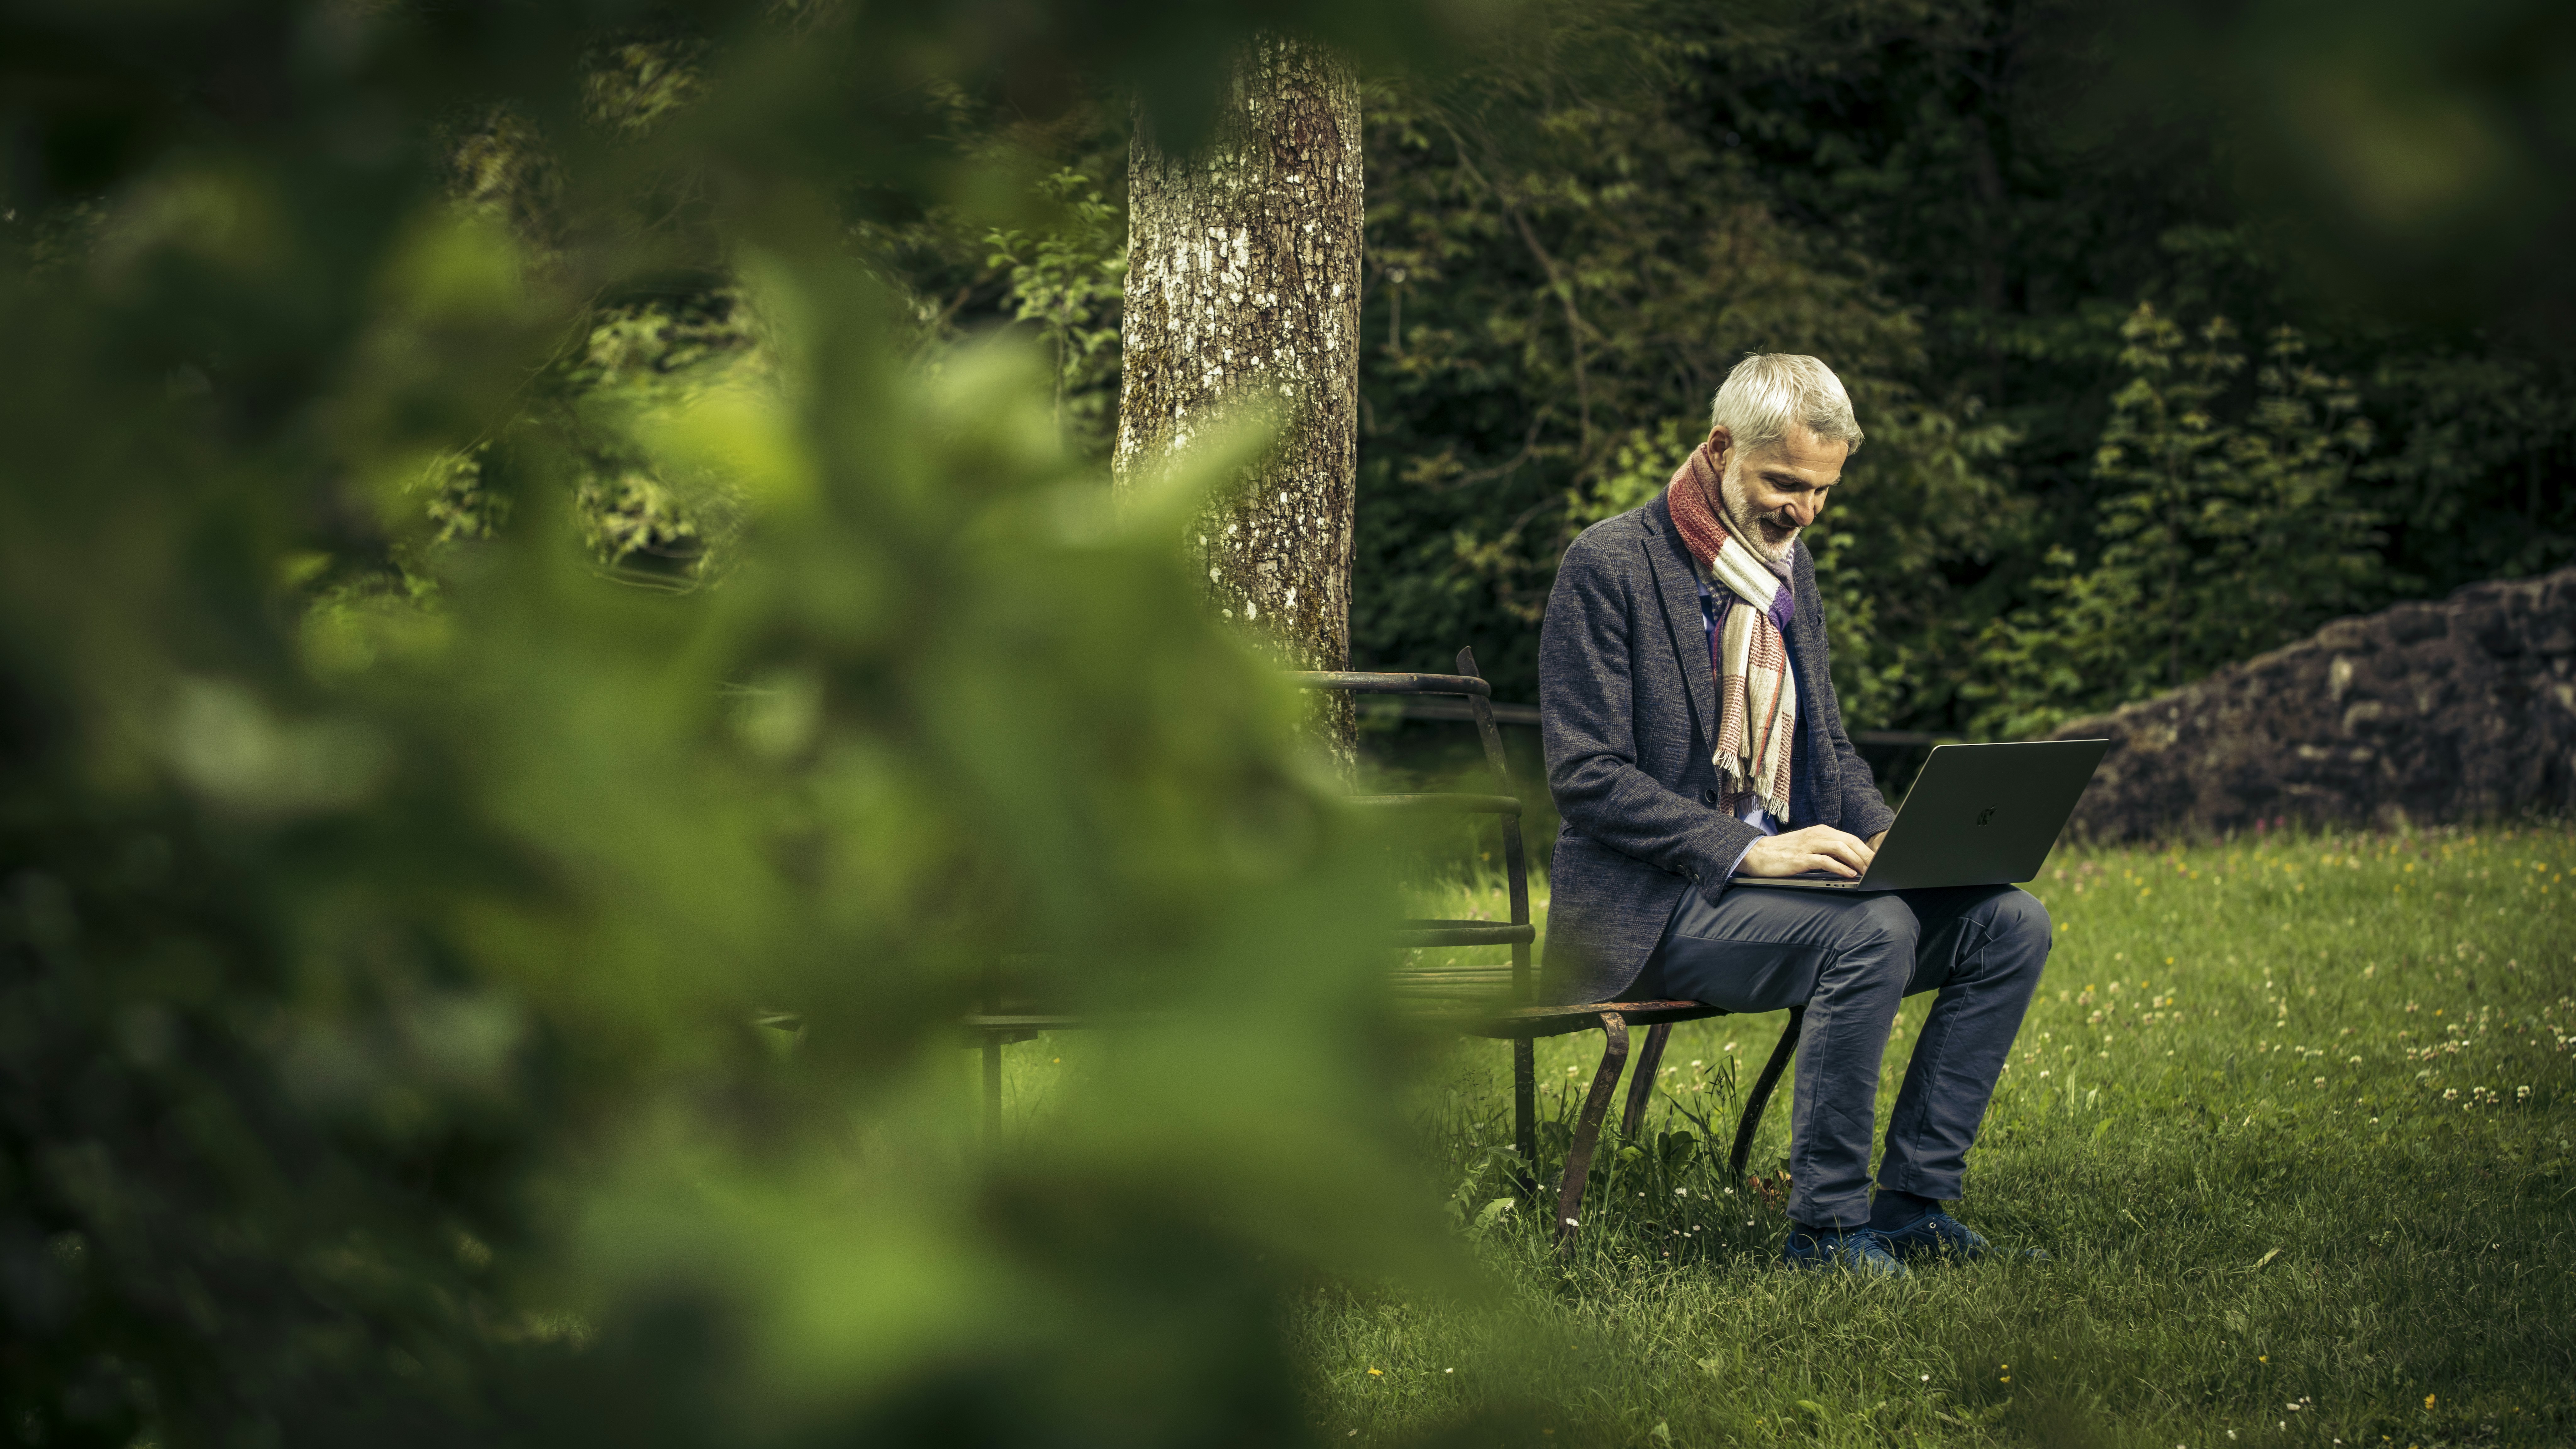
[[[1316, 1431], [2576, 1444], [2571, 864], [2563, 828], [2061, 851], [2032, 884], [2056, 954], [1958, 1207], [2043, 1263], [1772, 1266], [1777, 1199], [1721, 1155], [1783, 1016], [1674, 1029], [1646, 1137], [1605, 1147], [1558, 1258], [1504, 1194], [1504, 1047], [1448, 1049], [1417, 1119], [1497, 1287], [1301, 1299]], [[1468, 887], [1427, 905], [1499, 915]], [[1929, 1000], [1896, 1026], [1880, 1114]], [[1540, 1044], [1543, 1114], [1571, 1119], [1597, 1044]], [[1780, 1171], [1785, 1119], [1783, 1088], [1757, 1171]]]

